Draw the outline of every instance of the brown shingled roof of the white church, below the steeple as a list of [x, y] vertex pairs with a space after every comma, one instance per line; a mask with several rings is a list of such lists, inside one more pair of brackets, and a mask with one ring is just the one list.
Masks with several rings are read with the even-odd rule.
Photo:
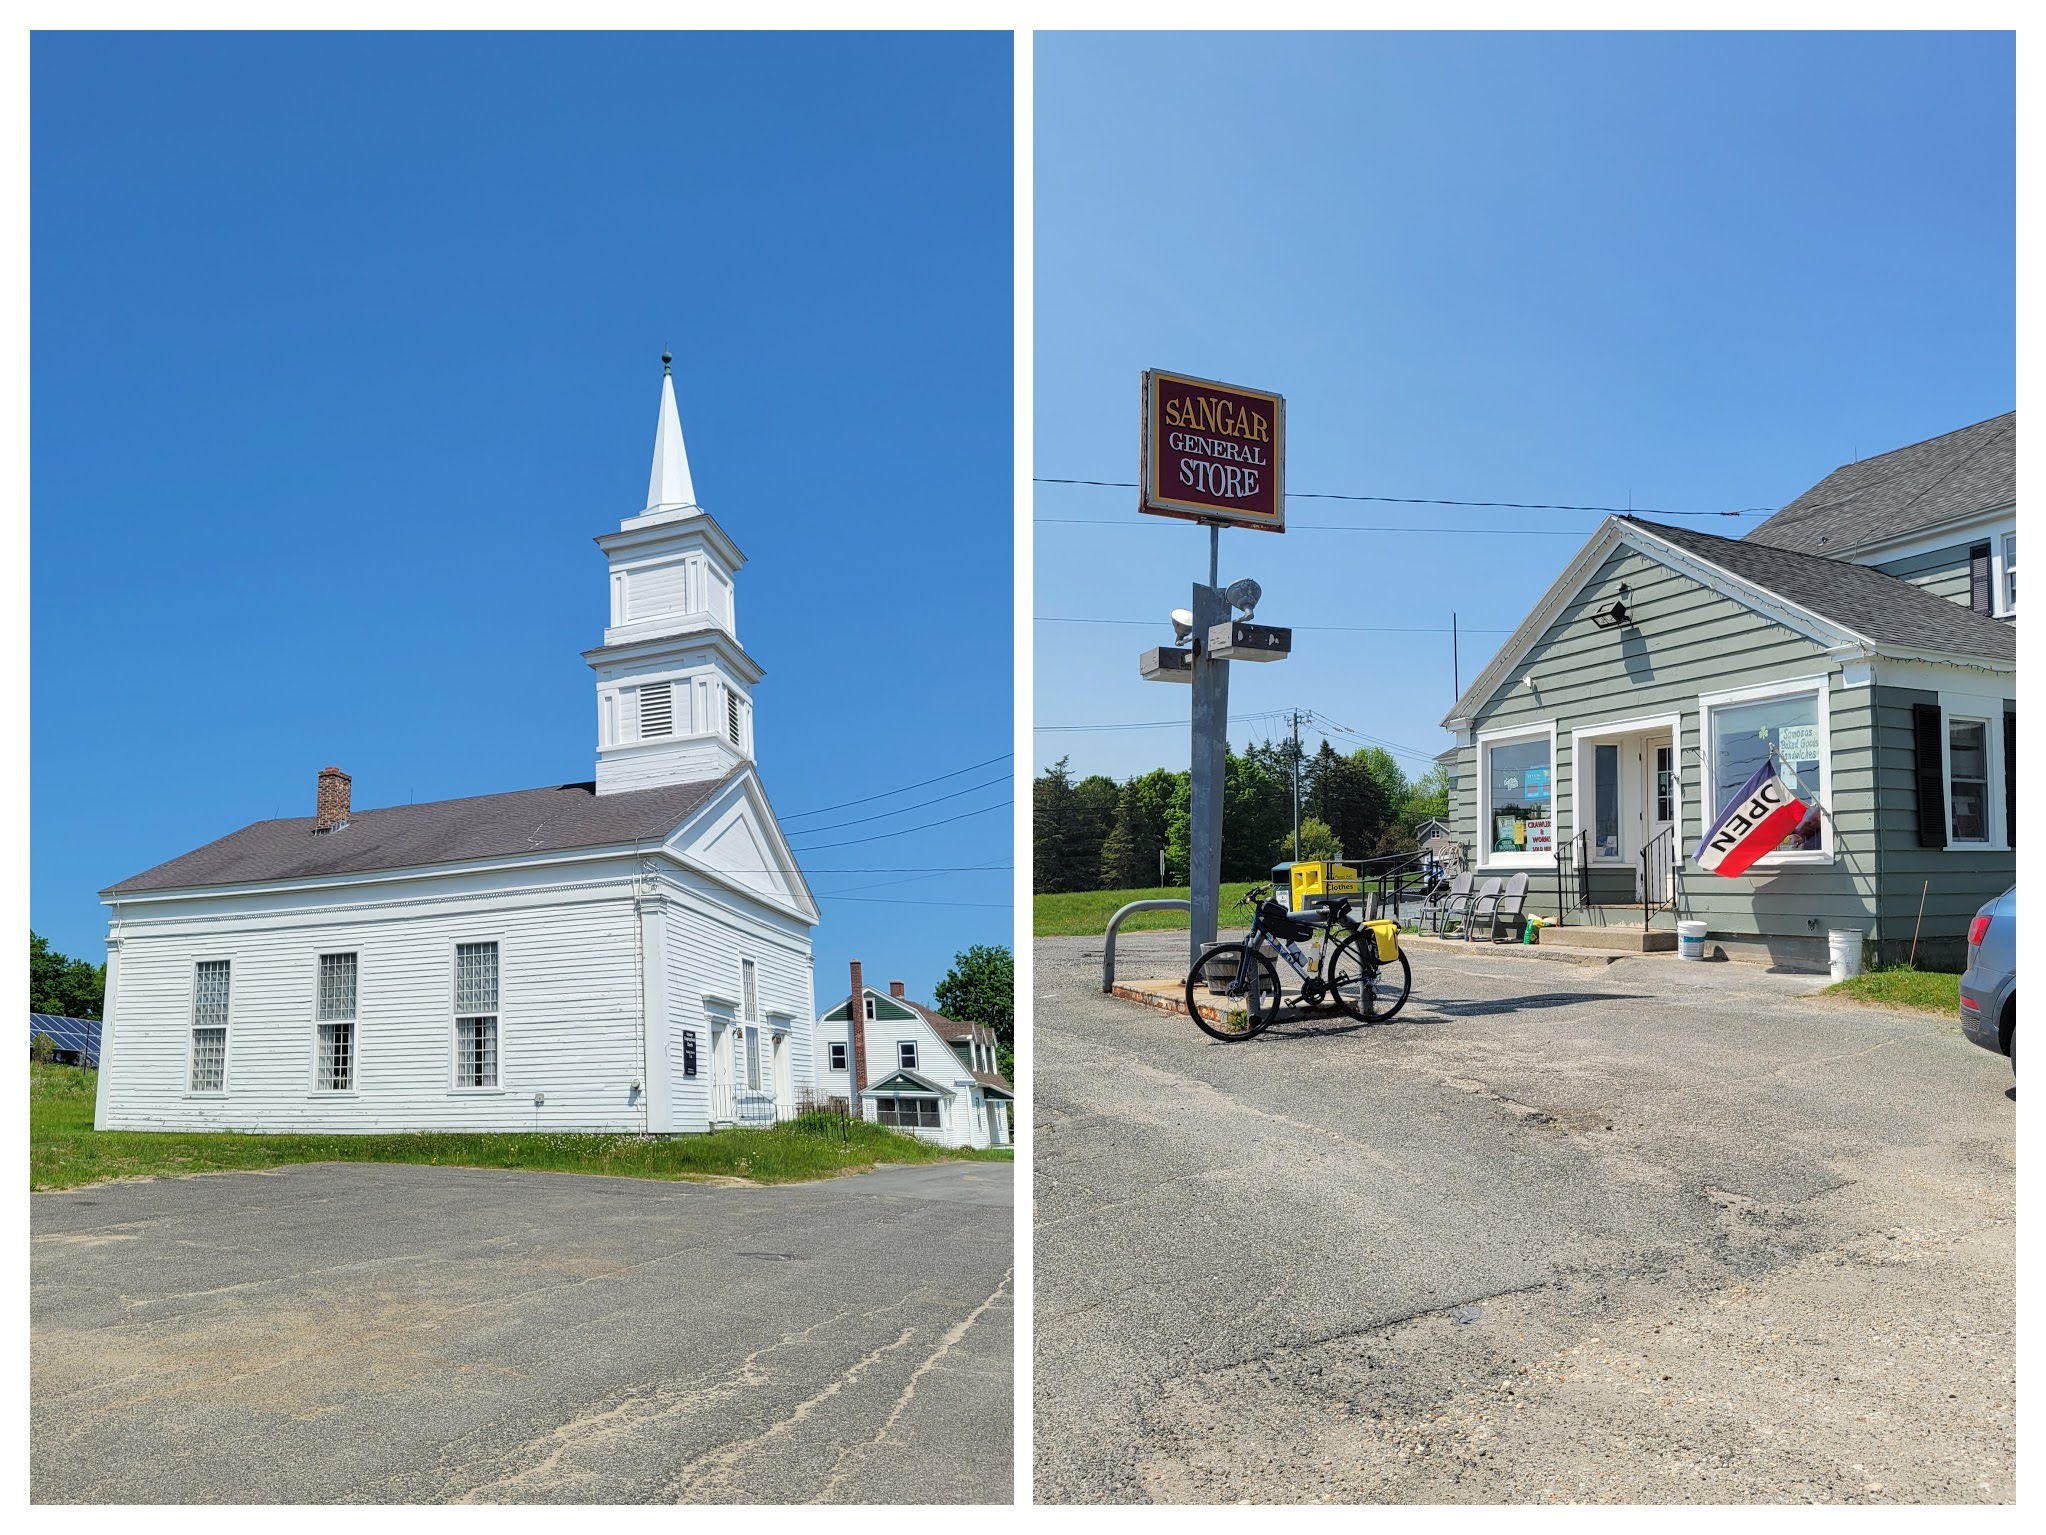
[[354, 810], [346, 827], [325, 833], [313, 831], [309, 815], [256, 821], [100, 894], [307, 880], [663, 841], [737, 772], [620, 794], [597, 794], [595, 784], [557, 784], [466, 800], [393, 804], [385, 810]]

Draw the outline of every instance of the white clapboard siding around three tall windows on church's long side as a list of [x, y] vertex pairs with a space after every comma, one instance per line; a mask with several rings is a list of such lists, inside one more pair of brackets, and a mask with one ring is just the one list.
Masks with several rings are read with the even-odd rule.
[[[284, 901], [282, 896], [278, 901]], [[248, 905], [248, 903], [241, 903]], [[108, 1130], [640, 1130], [630, 886], [131, 919], [121, 931]], [[454, 1087], [454, 946], [497, 941], [497, 1091]], [[356, 1081], [313, 1087], [317, 956], [358, 954]], [[192, 968], [233, 964], [225, 1093], [188, 1091]], [[534, 1105], [534, 1095], [544, 1105]]]

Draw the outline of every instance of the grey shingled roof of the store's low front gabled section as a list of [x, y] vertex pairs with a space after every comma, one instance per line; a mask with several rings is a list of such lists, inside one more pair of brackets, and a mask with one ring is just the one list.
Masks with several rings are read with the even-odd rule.
[[1645, 518], [1625, 518], [1625, 522], [1876, 645], [1978, 655], [1991, 661], [2017, 659], [2017, 630], [2009, 624], [1868, 565], [1758, 544], [1753, 534], [1717, 538]]

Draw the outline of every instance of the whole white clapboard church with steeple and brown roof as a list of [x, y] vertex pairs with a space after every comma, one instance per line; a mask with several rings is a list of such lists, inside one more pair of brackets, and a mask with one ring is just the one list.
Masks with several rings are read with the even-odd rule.
[[816, 903], [753, 765], [743, 555], [663, 356], [647, 508], [597, 538], [595, 782], [258, 821], [100, 892], [100, 1130], [700, 1132], [816, 1081]]

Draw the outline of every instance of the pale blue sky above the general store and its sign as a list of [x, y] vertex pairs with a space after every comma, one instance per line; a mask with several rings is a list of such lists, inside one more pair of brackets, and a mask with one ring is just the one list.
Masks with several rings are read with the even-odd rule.
[[[1133, 481], [1162, 366], [1285, 393], [1289, 491], [1778, 508], [2013, 407], [2013, 133], [2009, 35], [1039, 33], [1033, 473]], [[1136, 657], [1207, 534], [1133, 508], [1037, 485], [1035, 768], [1187, 765], [1187, 690]], [[1295, 626], [1232, 667], [1232, 743], [1297, 706], [1422, 770], [1451, 614], [1469, 684], [1598, 522], [1226, 532]]]

